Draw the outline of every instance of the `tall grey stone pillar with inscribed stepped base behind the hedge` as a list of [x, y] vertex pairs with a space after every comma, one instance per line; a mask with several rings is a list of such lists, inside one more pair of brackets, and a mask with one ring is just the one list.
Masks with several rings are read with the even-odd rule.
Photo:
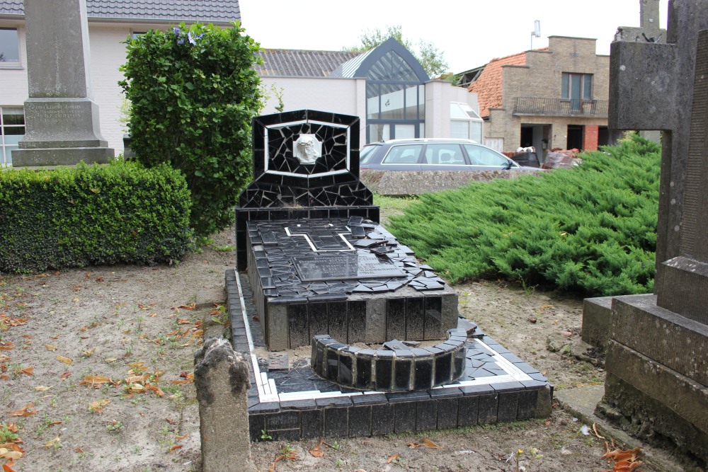
[[24, 0], [29, 98], [14, 167], [106, 163], [92, 100], [86, 0]]

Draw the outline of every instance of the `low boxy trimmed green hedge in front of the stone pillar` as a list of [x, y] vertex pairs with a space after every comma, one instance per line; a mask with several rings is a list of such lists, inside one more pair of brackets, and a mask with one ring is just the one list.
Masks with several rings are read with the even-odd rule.
[[0, 271], [178, 260], [189, 214], [185, 179], [166, 165], [0, 171]]

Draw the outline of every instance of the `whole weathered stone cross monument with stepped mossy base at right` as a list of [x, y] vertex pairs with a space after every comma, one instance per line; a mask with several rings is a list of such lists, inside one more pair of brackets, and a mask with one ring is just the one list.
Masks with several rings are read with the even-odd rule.
[[[656, 294], [614, 297], [604, 311], [607, 380], [598, 405], [641, 439], [668, 442], [702, 464], [708, 463], [707, 29], [708, 2], [671, 0], [666, 44], [612, 44], [610, 127], [661, 129], [663, 142]], [[583, 313], [583, 339], [588, 317]]]

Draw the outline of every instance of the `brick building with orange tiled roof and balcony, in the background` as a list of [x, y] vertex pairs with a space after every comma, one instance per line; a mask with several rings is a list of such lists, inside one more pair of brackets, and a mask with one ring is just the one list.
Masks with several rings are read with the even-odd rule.
[[535, 146], [539, 159], [553, 148], [609, 144], [610, 57], [595, 54], [595, 42], [550, 36], [548, 47], [464, 73], [479, 96], [484, 144], [498, 151]]

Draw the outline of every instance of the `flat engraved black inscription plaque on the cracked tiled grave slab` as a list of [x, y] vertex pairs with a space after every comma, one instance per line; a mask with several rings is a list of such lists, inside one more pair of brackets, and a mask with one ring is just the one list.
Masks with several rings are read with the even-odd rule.
[[373, 254], [304, 256], [294, 257], [292, 262], [303, 282], [388, 279], [406, 275], [390, 260]]

